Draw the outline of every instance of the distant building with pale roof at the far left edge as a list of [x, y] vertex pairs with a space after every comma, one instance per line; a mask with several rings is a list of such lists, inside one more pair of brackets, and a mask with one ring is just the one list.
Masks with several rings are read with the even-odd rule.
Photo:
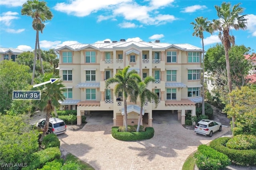
[[24, 51], [19, 49], [2, 48], [0, 47], [0, 61], [12, 60], [16, 61], [17, 56]]

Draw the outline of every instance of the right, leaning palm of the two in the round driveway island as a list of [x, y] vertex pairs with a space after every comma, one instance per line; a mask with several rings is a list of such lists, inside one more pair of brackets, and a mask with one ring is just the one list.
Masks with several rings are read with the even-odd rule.
[[140, 131], [140, 122], [142, 119], [142, 110], [143, 110], [143, 106], [144, 103], [146, 102], [146, 100], [150, 101], [154, 100], [155, 106], [157, 107], [158, 105], [158, 96], [156, 95], [156, 93], [150, 91], [147, 89], [147, 86], [150, 82], [155, 82], [155, 78], [152, 76], [148, 76], [145, 78], [144, 82], [141, 81], [141, 78], [138, 82], [138, 89], [136, 92], [136, 94], [138, 94], [138, 96], [140, 97], [140, 117], [138, 119], [138, 127], [137, 127], [137, 132]]

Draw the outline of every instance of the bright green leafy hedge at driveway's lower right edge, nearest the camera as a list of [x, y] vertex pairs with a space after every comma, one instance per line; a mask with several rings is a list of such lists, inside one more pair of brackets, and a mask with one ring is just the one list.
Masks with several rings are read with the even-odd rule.
[[199, 145], [194, 154], [196, 165], [200, 170], [218, 170], [230, 165], [227, 155], [218, 152], [207, 145]]

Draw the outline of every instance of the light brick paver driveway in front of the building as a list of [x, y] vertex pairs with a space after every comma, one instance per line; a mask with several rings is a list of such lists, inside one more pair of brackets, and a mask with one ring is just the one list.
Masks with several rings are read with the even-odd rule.
[[155, 137], [124, 142], [111, 137], [112, 125], [85, 125], [80, 131], [58, 135], [61, 147], [96, 170], [181, 170], [188, 155], [230, 130], [210, 137], [196, 135], [179, 123], [153, 124]]

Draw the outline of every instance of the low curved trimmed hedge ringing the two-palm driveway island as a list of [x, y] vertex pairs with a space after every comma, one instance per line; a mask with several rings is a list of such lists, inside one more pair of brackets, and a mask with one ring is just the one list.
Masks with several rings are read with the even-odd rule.
[[118, 127], [112, 127], [112, 137], [120, 141], [141, 141], [154, 137], [154, 128], [146, 127], [142, 132], [119, 132]]

